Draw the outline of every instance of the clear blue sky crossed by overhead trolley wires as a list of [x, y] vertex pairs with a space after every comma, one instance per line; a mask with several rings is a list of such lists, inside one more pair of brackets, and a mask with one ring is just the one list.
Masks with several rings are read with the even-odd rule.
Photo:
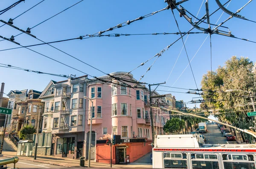
[[[26, 0], [25, 3], [20, 3], [4, 14], [0, 15], [0, 19], [8, 21], [9, 18], [14, 18], [31, 8], [41, 0]], [[16, 0], [0, 0], [1, 9], [15, 3]], [[79, 0], [44, 0], [35, 8], [21, 15], [14, 20], [14, 25], [20, 29], [26, 30], [27, 27], [33, 27], [38, 23], [46, 20], [58, 12], [68, 8], [69, 6], [79, 2]], [[189, 0], [182, 4], [189, 12], [196, 15], [203, 0]], [[226, 1], [221, 0], [221, 3]], [[205, 3], [205, 0], [204, 0]], [[205, 14], [205, 6], [202, 5], [198, 13], [201, 18]], [[240, 9], [247, 0], [232, 0], [227, 7], [230, 11]], [[252, 1], [248, 6], [241, 10], [240, 14], [250, 20], [256, 20], [254, 9], [256, 2]], [[42, 23], [39, 26], [31, 29], [31, 34], [34, 34], [38, 39], [45, 42], [55, 40], [64, 40], [69, 38], [79, 37], [86, 34], [94, 34], [99, 31], [104, 31], [110, 27], [116, 26], [119, 23], [127, 20], [133, 20], [145, 14], [158, 11], [167, 6], [164, 0], [129, 0], [129, 1], [88, 1], [84, 0], [72, 8], [64, 11], [61, 14], [53, 17], [50, 20]], [[212, 13], [218, 6], [214, 0], [209, 2], [209, 12]], [[186, 32], [191, 28], [191, 25], [184, 17], [179, 17], [177, 10], [174, 10], [175, 17], [180, 27], [181, 32]], [[219, 10], [210, 17], [211, 23], [216, 23], [221, 16], [222, 11]], [[229, 17], [224, 13], [218, 23], [221, 23]], [[193, 19], [194, 20], [194, 19]], [[2, 24], [0, 23], [0, 26]], [[201, 24], [202, 27], [207, 28], [206, 24]], [[232, 18], [224, 26], [229, 27], [230, 31], [236, 37], [246, 38], [256, 41], [256, 35], [253, 30], [256, 28], [256, 23], [251, 23], [246, 20]], [[226, 31], [227, 29], [221, 28]], [[123, 28], [115, 29], [105, 34], [145, 34], [145, 33], [173, 33], [178, 32], [172, 11], [165, 10], [154, 14], [143, 20], [138, 20]], [[194, 29], [193, 32], [199, 32]], [[0, 28], [0, 35], [3, 37], [11, 37], [20, 32], [10, 26], [3, 26]], [[84, 62], [95, 66], [106, 73], [111, 72], [129, 72], [140, 63], [145, 62], [157, 52], [160, 52], [169, 44], [173, 43], [180, 35], [143, 35], [143, 36], [122, 36], [122, 37], [93, 37], [84, 40], [72, 40], [67, 42], [53, 43], [52, 46], [73, 55], [74, 57], [83, 60]], [[184, 36], [184, 40], [186, 40]], [[190, 34], [186, 49], [189, 59], [195, 55], [201, 44], [204, 42], [207, 34]], [[30, 37], [27, 34], [21, 34], [15, 37], [15, 41], [23, 46], [41, 43], [39, 40]], [[158, 58], [158, 60], [151, 67], [151, 70], [145, 75], [142, 82], [146, 83], [162, 83], [167, 80], [175, 61], [182, 49], [183, 43], [179, 40], [168, 51]], [[19, 47], [18, 45], [9, 41], [0, 42], [0, 50]], [[56, 49], [47, 45], [30, 47], [37, 52], [59, 60], [76, 69], [91, 74], [93, 76], [102, 76], [101, 72], [81, 63], [70, 56], [63, 54]], [[235, 56], [249, 57], [253, 62], [256, 60], [255, 43], [250, 43], [244, 40], [238, 40], [230, 37], [220, 36], [218, 34], [212, 35], [212, 70], [215, 70], [219, 65]], [[68, 68], [60, 63], [49, 60], [39, 54], [36, 54], [28, 49], [14, 49], [0, 52], [0, 63], [10, 64], [12, 66], [32, 69], [41, 72], [49, 72], [54, 74], [76, 74], [77, 76], [84, 75], [81, 72]], [[132, 74], [134, 78], [140, 79], [140, 76], [145, 73], [148, 67], [154, 62], [150, 60], [144, 66], [136, 69]], [[188, 60], [186, 53], [183, 51], [169, 77], [166, 81], [166, 86], [181, 87], [188, 89], [196, 89], [192, 72], [188, 67], [186, 68]], [[198, 88], [200, 88], [201, 77], [208, 70], [210, 70], [210, 47], [209, 37], [202, 45], [201, 49], [195, 55], [191, 62], [195, 80]], [[0, 82], [5, 83], [5, 93], [10, 90], [35, 89], [43, 91], [49, 83], [49, 80], [65, 80], [61, 77], [49, 76], [45, 74], [35, 74], [14, 69], [7, 69], [0, 67]], [[177, 78], [180, 77], [178, 80]], [[175, 81], [177, 82], [175, 83]], [[174, 84], [175, 83], [175, 84]], [[160, 90], [168, 90], [169, 88], [159, 87]], [[175, 92], [187, 92], [186, 90], [172, 89]], [[188, 102], [192, 97], [198, 95], [190, 95], [175, 92], [159, 92], [172, 93], [177, 100], [184, 100]], [[194, 104], [187, 105], [193, 107]], [[198, 105], [199, 106], [199, 105]]]

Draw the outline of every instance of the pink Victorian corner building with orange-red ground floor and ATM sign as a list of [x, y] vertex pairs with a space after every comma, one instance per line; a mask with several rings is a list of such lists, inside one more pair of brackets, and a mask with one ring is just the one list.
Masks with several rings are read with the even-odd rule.
[[[115, 72], [114, 77], [99, 77], [110, 83], [102, 83], [97, 79], [86, 80], [87, 97], [86, 114], [92, 115], [91, 159], [96, 162], [110, 163], [110, 146], [106, 145], [113, 135], [121, 136], [121, 143], [112, 146], [112, 163], [133, 162], [152, 150], [152, 131], [149, 108], [149, 91], [144, 86], [131, 88], [136, 81], [132, 74]], [[157, 95], [156, 92], [153, 93]], [[163, 103], [164, 99], [155, 101]], [[93, 102], [93, 107], [92, 107]], [[92, 114], [90, 113], [92, 110]], [[169, 120], [169, 112], [153, 110], [155, 133], [163, 134], [163, 125]], [[87, 118], [86, 118], [87, 119]], [[85, 125], [84, 155], [88, 158], [90, 136], [90, 120]]]

